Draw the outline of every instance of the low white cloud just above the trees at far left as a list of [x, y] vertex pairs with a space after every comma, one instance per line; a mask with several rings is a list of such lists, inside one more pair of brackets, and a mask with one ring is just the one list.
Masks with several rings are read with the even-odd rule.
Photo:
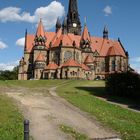
[[0, 70], [13, 70], [19, 64], [19, 60], [9, 63], [0, 63]]

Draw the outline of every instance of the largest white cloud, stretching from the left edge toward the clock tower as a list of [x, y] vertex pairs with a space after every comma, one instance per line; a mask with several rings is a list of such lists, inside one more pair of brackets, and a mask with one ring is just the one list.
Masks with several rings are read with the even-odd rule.
[[46, 7], [37, 8], [33, 15], [29, 12], [21, 10], [18, 7], [6, 7], [0, 10], [1, 22], [29, 22], [38, 23], [42, 18], [45, 29], [52, 28], [57, 20], [57, 17], [62, 17], [65, 13], [64, 7], [60, 2], [53, 1]]

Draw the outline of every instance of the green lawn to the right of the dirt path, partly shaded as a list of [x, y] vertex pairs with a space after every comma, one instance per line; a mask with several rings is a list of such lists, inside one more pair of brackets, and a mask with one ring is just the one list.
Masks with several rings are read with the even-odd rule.
[[140, 113], [112, 105], [95, 95], [105, 93], [104, 81], [73, 81], [57, 89], [60, 96], [118, 132], [124, 140], [140, 140]]

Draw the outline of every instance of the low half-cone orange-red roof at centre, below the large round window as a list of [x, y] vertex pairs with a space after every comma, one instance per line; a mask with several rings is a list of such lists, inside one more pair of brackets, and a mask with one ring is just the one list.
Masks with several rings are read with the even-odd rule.
[[73, 60], [73, 59], [69, 59], [68, 61], [66, 61], [62, 67], [81, 67], [80, 64]]

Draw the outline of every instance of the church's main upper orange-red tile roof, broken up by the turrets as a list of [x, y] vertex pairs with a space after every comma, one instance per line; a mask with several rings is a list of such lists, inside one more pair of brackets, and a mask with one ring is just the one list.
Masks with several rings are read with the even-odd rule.
[[[83, 38], [89, 38], [87, 27], [85, 27], [84, 30], [85, 31], [83, 34]], [[46, 32], [45, 36], [47, 38], [47, 41], [46, 41], [47, 48], [49, 48], [50, 42], [52, 42], [52, 47], [59, 47], [61, 40], [62, 40], [63, 46], [65, 47], [73, 46], [73, 41], [75, 41], [76, 47], [80, 48], [81, 36], [70, 34], [70, 33], [63, 35], [62, 29], [60, 29], [57, 33]], [[27, 41], [26, 41], [27, 52], [32, 51], [32, 48], [34, 46], [34, 37], [35, 37], [34, 35], [30, 35], [30, 34], [27, 35]], [[90, 37], [90, 41], [91, 41], [92, 51], [93, 52], [97, 51], [99, 53], [99, 56], [107, 56], [110, 47], [113, 46], [115, 49], [115, 55], [126, 57], [121, 44], [116, 40], [103, 39], [102, 37]]]

